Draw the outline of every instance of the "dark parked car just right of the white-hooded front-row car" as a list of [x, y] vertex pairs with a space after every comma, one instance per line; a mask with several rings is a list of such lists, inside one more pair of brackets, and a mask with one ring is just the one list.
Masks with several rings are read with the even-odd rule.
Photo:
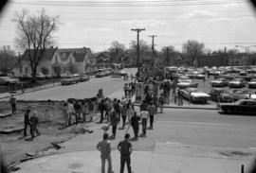
[[216, 102], [231, 102], [233, 100], [230, 93], [222, 88], [214, 88], [210, 90], [210, 98]]

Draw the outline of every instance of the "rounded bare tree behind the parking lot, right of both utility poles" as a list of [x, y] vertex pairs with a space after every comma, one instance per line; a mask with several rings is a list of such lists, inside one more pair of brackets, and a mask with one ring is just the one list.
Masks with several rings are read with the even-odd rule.
[[197, 41], [187, 41], [182, 45], [183, 54], [188, 58], [188, 63], [193, 66], [194, 60], [197, 60], [200, 55], [204, 52], [204, 43], [199, 43]]

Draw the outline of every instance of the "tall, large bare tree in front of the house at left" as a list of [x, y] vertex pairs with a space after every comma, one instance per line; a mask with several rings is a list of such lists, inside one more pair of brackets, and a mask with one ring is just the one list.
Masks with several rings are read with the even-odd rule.
[[49, 16], [42, 9], [37, 14], [29, 14], [24, 9], [13, 19], [17, 26], [15, 43], [23, 50], [28, 51], [32, 81], [36, 82], [37, 66], [44, 58], [46, 48], [53, 43], [52, 33], [58, 29], [59, 16]]

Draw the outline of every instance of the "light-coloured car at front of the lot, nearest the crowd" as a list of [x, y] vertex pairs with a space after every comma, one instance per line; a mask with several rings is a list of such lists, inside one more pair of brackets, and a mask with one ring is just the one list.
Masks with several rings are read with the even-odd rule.
[[185, 88], [180, 91], [184, 98], [191, 100], [192, 102], [207, 103], [208, 100], [210, 100], [210, 95], [199, 91], [197, 88]]

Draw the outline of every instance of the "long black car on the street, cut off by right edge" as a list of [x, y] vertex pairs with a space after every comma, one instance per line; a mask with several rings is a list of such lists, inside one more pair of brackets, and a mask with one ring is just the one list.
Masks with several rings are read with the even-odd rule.
[[256, 114], [256, 100], [240, 99], [235, 103], [220, 103], [219, 109], [225, 113], [252, 113]]

